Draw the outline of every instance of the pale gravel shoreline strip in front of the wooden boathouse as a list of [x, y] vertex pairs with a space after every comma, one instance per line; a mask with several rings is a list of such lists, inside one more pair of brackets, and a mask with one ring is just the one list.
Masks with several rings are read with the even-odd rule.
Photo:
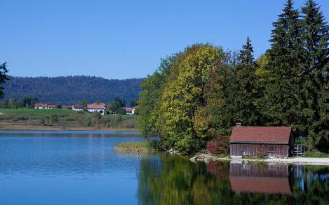
[[[201, 155], [195, 157], [197, 157], [196, 161], [203, 161], [205, 163], [208, 163], [210, 160], [213, 160], [213, 161], [231, 161], [236, 163], [265, 162], [265, 163], [290, 163], [296, 165], [303, 164], [303, 165], [329, 166], [329, 158], [319, 158], [319, 157], [289, 157], [289, 158], [265, 158], [265, 159], [229, 158], [229, 157], [222, 158], [222, 157], [214, 157], [211, 155]], [[192, 162], [195, 162], [195, 157], [192, 157], [190, 160]]]

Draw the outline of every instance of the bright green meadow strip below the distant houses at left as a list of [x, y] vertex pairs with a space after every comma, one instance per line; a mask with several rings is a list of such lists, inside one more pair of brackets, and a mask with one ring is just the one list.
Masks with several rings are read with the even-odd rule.
[[53, 114], [71, 114], [76, 113], [74, 110], [68, 109], [0, 109], [0, 113], [4, 115], [16, 115], [16, 114], [30, 114], [30, 115], [53, 115]]

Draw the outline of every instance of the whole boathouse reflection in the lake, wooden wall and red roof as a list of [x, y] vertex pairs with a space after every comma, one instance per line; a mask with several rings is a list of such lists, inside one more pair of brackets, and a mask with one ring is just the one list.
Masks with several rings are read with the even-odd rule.
[[230, 163], [230, 183], [236, 193], [291, 194], [291, 166]]

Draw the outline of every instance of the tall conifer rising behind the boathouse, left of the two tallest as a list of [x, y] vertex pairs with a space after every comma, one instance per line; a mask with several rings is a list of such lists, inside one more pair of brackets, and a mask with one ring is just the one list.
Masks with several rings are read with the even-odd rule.
[[271, 48], [267, 50], [269, 76], [265, 84], [262, 104], [263, 123], [275, 126], [294, 126], [299, 134], [303, 133], [301, 118], [301, 98], [299, 96], [303, 56], [301, 21], [299, 12], [288, 0], [283, 13], [273, 23]]

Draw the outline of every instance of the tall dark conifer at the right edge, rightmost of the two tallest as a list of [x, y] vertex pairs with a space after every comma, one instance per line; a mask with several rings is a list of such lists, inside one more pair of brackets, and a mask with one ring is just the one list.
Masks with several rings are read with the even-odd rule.
[[308, 132], [308, 145], [328, 151], [329, 109], [329, 27], [320, 7], [308, 0], [302, 11], [305, 60], [299, 76], [303, 79], [305, 107], [303, 115]]

